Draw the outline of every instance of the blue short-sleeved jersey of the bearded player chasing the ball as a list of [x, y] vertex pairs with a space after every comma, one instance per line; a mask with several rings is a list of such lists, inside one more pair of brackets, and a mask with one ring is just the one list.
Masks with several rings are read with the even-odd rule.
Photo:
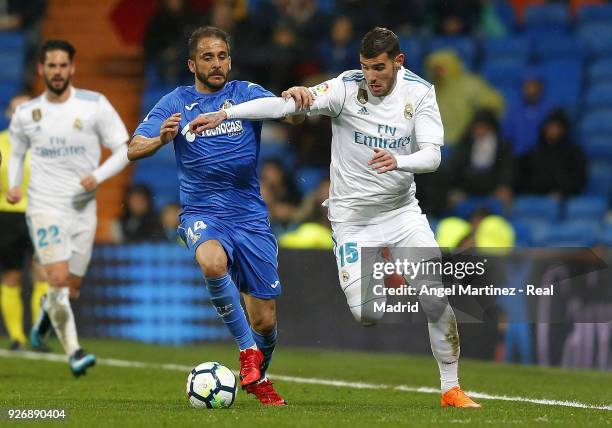
[[259, 85], [236, 80], [212, 94], [200, 93], [194, 86], [180, 86], [165, 95], [138, 126], [134, 135], [154, 138], [159, 136], [164, 120], [181, 113], [174, 151], [183, 214], [203, 213], [232, 221], [268, 216], [256, 169], [261, 122], [226, 120], [203, 135], [189, 132], [189, 122], [200, 113], [229, 104], [273, 96]]

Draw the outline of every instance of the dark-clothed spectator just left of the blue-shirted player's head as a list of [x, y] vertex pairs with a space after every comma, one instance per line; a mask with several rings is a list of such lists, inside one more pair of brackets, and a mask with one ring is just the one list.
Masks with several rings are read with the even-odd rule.
[[185, 66], [185, 40], [195, 27], [194, 13], [184, 0], [161, 0], [149, 21], [144, 37], [145, 61], [153, 64], [168, 84], [187, 81], [190, 76]]

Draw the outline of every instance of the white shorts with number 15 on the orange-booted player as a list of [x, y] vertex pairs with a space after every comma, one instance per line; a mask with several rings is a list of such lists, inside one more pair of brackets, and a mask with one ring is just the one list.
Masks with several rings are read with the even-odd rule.
[[[363, 295], [362, 279], [371, 278], [371, 272], [362, 272], [362, 263], [371, 267], [381, 256], [380, 253], [362, 253], [362, 248], [388, 248], [388, 257], [413, 261], [440, 256], [427, 217], [421, 213], [409, 211], [396, 216], [391, 213], [372, 224], [334, 222], [332, 229], [340, 286], [353, 316], [363, 323], [376, 320], [365, 319], [365, 312], [362, 313], [362, 307], [372, 303], [371, 296]], [[363, 260], [364, 257], [371, 260]]]

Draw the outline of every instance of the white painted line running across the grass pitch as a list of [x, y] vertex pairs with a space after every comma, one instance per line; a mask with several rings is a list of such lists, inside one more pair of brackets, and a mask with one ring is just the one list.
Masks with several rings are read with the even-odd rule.
[[[38, 352], [30, 351], [8, 351], [0, 349], [0, 357], [5, 358], [23, 358], [28, 360], [39, 360], [39, 361], [53, 361], [53, 362], [67, 362], [67, 358], [61, 354], [41, 354]], [[156, 370], [169, 370], [169, 371], [182, 371], [189, 372], [193, 367], [182, 364], [157, 364], [147, 363], [143, 361], [128, 361], [128, 360], [117, 360], [114, 358], [100, 358], [96, 362], [97, 364], [112, 367], [129, 367], [129, 368], [141, 368], [141, 369], [156, 369]], [[440, 390], [430, 387], [414, 387], [407, 385], [387, 385], [387, 384], [375, 384], [375, 383], [364, 383], [364, 382], [347, 382], [343, 380], [335, 379], [321, 379], [321, 378], [307, 378], [307, 377], [296, 377], [296, 376], [283, 376], [270, 374], [275, 380], [284, 382], [310, 384], [310, 385], [325, 385], [325, 386], [337, 386], [341, 388], [353, 388], [353, 389], [390, 389], [403, 392], [418, 392], [421, 394], [439, 394]], [[579, 409], [590, 409], [590, 410], [608, 410], [612, 411], [612, 405], [602, 406], [580, 403], [578, 401], [561, 401], [561, 400], [548, 400], [545, 398], [527, 398], [527, 397], [512, 397], [507, 395], [491, 395], [486, 392], [466, 391], [473, 398], [481, 398], [484, 400], [499, 400], [499, 401], [515, 401], [522, 403], [541, 404], [544, 406], [559, 406], [559, 407], [573, 407]]]

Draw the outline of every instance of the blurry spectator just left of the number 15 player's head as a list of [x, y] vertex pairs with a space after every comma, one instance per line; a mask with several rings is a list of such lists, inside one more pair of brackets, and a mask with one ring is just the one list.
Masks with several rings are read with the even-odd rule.
[[319, 47], [319, 60], [329, 75], [338, 75], [359, 67], [359, 43], [354, 38], [353, 21], [339, 16], [331, 27], [330, 37]]

